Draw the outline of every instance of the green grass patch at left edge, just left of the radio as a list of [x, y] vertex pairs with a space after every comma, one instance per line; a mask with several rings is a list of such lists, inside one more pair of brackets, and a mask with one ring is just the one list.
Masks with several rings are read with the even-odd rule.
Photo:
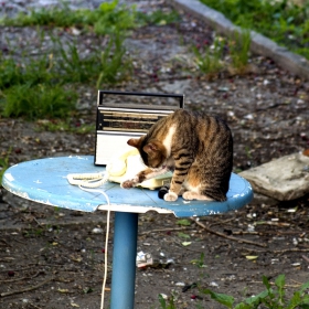
[[[17, 62], [0, 54], [0, 108], [4, 117], [66, 118], [75, 109], [81, 83], [115, 84], [129, 76], [130, 62], [125, 58], [124, 38], [110, 36], [104, 51], [94, 49], [82, 57], [76, 43], [63, 46], [53, 38], [57, 54]], [[68, 86], [71, 85], [71, 86]]]

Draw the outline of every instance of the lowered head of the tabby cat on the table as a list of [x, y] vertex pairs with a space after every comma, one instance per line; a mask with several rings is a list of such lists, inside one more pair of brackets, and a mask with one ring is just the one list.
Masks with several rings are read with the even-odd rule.
[[147, 140], [142, 136], [129, 139], [128, 145], [138, 149], [143, 163], [149, 168], [161, 168], [167, 160], [167, 149], [160, 141]]

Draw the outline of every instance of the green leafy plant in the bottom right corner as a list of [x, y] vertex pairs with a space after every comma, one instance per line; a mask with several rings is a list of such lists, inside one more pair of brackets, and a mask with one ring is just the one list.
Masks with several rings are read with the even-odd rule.
[[202, 292], [210, 295], [212, 299], [230, 309], [257, 309], [260, 308], [260, 305], [265, 306], [263, 308], [269, 309], [309, 308], [309, 295], [306, 292], [309, 289], [309, 281], [301, 285], [290, 299], [287, 299], [285, 294], [285, 275], [279, 275], [275, 279], [275, 289], [271, 288], [269, 280], [265, 276], [263, 276], [263, 284], [266, 290], [257, 296], [246, 298], [237, 305], [234, 303], [235, 299], [232, 296], [217, 294], [210, 289], [203, 289]]

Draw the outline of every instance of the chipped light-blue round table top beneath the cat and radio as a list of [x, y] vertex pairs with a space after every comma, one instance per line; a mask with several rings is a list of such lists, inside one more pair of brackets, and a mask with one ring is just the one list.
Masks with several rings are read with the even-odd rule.
[[86, 192], [67, 181], [70, 173], [105, 172], [104, 167], [94, 166], [93, 156], [70, 156], [38, 159], [9, 168], [2, 178], [2, 185], [21, 198], [70, 210], [94, 212], [111, 210], [117, 212], [173, 213], [178, 217], [202, 216], [237, 210], [253, 199], [251, 184], [242, 177], [232, 173], [227, 201], [166, 202], [158, 198], [157, 190], [132, 188], [121, 189], [118, 183], [106, 182], [99, 189], [110, 200], [98, 192]]

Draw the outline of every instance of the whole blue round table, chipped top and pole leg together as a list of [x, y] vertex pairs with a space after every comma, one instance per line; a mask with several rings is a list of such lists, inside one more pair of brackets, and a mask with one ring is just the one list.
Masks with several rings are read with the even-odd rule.
[[253, 199], [251, 184], [232, 173], [227, 201], [166, 202], [157, 190], [134, 188], [125, 190], [117, 183], [106, 182], [104, 190], [110, 201], [98, 192], [87, 192], [67, 181], [70, 173], [98, 173], [105, 168], [94, 166], [93, 156], [55, 157], [22, 162], [9, 168], [2, 185], [21, 198], [75, 211], [115, 211], [111, 309], [134, 308], [138, 213], [157, 211], [173, 213], [177, 217], [203, 216], [234, 211]]

